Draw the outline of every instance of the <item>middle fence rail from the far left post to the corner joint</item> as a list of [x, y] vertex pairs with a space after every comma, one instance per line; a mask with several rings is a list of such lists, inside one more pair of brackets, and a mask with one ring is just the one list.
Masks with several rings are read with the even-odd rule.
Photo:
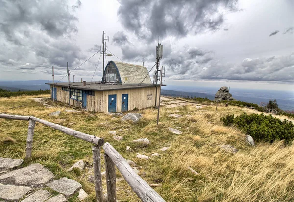
[[40, 118], [33, 117], [33, 116], [31, 116], [30, 119], [34, 120], [34, 121], [37, 121], [39, 123], [42, 123], [42, 124], [44, 124], [46, 126], [49, 126], [51, 128], [54, 128], [56, 130], [59, 130], [59, 131], [61, 131], [63, 133], [66, 133], [68, 135], [71, 135], [73, 137], [85, 140], [87, 142], [91, 142], [91, 143], [99, 145], [99, 146], [103, 145], [103, 143], [104, 143], [104, 139], [102, 139], [100, 137], [95, 137], [93, 135], [82, 133], [82, 132], [79, 132], [79, 131], [76, 131], [76, 130], [73, 130], [73, 129], [58, 125], [58, 124], [55, 124], [55, 123], [51, 123], [49, 121], [45, 121], [45, 120], [40, 119]]

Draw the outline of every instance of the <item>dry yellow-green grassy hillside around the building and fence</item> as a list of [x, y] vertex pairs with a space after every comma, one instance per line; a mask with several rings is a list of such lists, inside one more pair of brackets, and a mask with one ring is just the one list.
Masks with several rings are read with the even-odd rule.
[[[38, 95], [42, 97], [44, 95]], [[49, 96], [49, 95], [45, 95]], [[33, 101], [33, 96], [0, 98], [0, 113], [32, 115], [88, 134], [104, 137], [126, 159], [131, 159], [140, 168], [140, 176], [148, 183], [162, 184], [154, 188], [168, 202], [289, 202], [294, 200], [294, 144], [259, 142], [250, 146], [245, 134], [234, 127], [225, 127], [220, 118], [227, 114], [239, 115], [260, 113], [234, 106], [183, 106], [162, 107], [160, 124], [156, 127], [156, 109], [137, 111], [143, 114], [138, 123], [123, 122], [97, 112], [65, 112], [62, 103], [51, 103], [53, 108]], [[37, 97], [37, 96], [34, 96]], [[22, 106], [13, 108], [15, 106]], [[59, 117], [49, 114], [61, 111]], [[180, 114], [182, 118], [170, 117]], [[276, 116], [279, 117], [279, 116]], [[279, 117], [284, 119], [285, 117]], [[294, 121], [293, 119], [290, 119]], [[0, 157], [25, 158], [28, 123], [26, 121], [0, 119]], [[176, 135], [168, 127], [181, 130]], [[122, 131], [119, 131], [122, 129]], [[109, 131], [123, 136], [122, 141], [113, 139]], [[143, 146], [131, 140], [148, 138], [150, 144]], [[233, 154], [219, 145], [229, 144], [238, 149]], [[35, 128], [32, 159], [25, 161], [41, 163], [57, 177], [69, 177], [79, 181], [90, 194], [87, 202], [95, 199], [94, 184], [88, 182], [92, 172], [91, 144], [75, 139], [37, 123]], [[130, 146], [133, 151], [126, 151]], [[160, 149], [169, 146], [165, 152]], [[103, 152], [103, 151], [102, 151]], [[137, 153], [150, 156], [158, 152], [159, 157], [149, 160], [136, 158]], [[82, 172], [66, 172], [74, 162], [84, 160], [87, 168]], [[199, 175], [192, 173], [188, 166]], [[102, 160], [102, 171], [105, 170]], [[117, 177], [122, 177], [117, 171]], [[106, 191], [105, 178], [103, 180]], [[117, 183], [118, 200], [139, 202], [125, 181]], [[76, 195], [70, 201], [77, 201]]]

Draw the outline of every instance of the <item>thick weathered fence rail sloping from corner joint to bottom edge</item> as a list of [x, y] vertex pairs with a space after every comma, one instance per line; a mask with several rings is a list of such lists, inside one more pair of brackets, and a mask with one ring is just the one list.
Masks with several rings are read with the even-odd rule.
[[143, 180], [126, 160], [108, 142], [103, 145], [105, 154], [110, 157], [122, 173], [124, 179], [143, 202], [165, 202], [164, 199]]

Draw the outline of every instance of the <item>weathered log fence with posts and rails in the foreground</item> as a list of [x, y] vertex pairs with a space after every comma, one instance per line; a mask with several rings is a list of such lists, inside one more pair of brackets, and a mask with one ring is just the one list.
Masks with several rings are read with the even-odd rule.
[[[26, 150], [25, 159], [29, 159], [32, 155], [33, 146], [33, 136], [35, 131], [36, 122], [42, 123], [46, 126], [64, 132], [75, 138], [82, 139], [84, 141], [93, 143], [92, 153], [93, 153], [93, 166], [94, 166], [94, 179], [95, 179], [95, 192], [96, 192], [96, 202], [103, 202], [103, 190], [102, 190], [102, 176], [101, 176], [101, 154], [100, 149], [104, 144], [104, 140], [100, 137], [75, 131], [73, 129], [51, 123], [49, 121], [39, 119], [33, 116], [17, 116], [0, 114], [0, 118], [14, 119], [14, 120], [24, 120], [29, 121], [27, 140], [26, 140]], [[104, 149], [104, 159], [105, 159], [105, 169], [106, 169], [106, 185], [107, 185], [107, 198], [108, 202], [116, 202], [116, 173], [115, 166], [122, 173], [126, 182], [130, 185], [132, 190], [137, 194], [137, 196], [143, 202], [165, 202], [165, 200], [154, 190], [148, 183], [143, 180], [133, 168], [126, 162], [126, 160], [116, 151], [108, 142], [103, 145]]]

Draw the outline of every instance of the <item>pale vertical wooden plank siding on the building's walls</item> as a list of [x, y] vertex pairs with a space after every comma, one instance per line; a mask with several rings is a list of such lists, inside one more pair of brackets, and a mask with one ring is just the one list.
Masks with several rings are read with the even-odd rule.
[[[69, 92], [57, 89], [57, 101], [68, 104]], [[52, 85], [50, 90], [52, 89]], [[122, 94], [128, 94], [128, 110], [135, 108], [144, 109], [155, 105], [155, 87], [138, 88], [138, 89], [122, 89], [122, 90], [107, 90], [95, 91], [95, 96], [87, 95], [87, 110], [95, 112], [108, 112], [108, 95], [116, 95], [117, 108], [116, 112], [122, 111]], [[148, 100], [148, 95], [152, 95], [152, 100]], [[149, 96], [150, 98], [151, 96]], [[157, 88], [157, 104], [159, 101], [159, 88]], [[82, 102], [70, 99], [70, 105], [82, 107]]]

